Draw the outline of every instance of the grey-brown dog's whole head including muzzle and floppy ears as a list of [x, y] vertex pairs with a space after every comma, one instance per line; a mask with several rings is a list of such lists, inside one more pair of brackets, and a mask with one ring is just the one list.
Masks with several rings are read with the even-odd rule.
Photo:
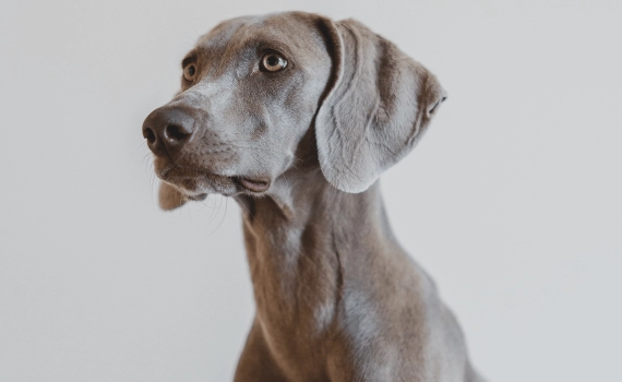
[[300, 145], [326, 180], [362, 192], [418, 142], [446, 95], [364, 25], [300, 12], [226, 21], [182, 61], [182, 86], [143, 124], [160, 206], [270, 192]]

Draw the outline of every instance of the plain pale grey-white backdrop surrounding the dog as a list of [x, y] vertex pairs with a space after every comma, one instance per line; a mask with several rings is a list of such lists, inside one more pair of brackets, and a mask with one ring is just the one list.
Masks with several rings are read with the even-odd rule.
[[0, 380], [230, 380], [254, 309], [240, 212], [160, 212], [141, 124], [200, 34], [282, 10], [358, 19], [448, 91], [382, 187], [476, 367], [622, 381], [622, 7], [605, 0], [3, 1]]

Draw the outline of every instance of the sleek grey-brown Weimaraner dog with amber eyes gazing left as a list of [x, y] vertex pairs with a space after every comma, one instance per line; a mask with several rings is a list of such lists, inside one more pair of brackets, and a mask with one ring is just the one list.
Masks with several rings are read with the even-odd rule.
[[164, 210], [241, 206], [256, 315], [235, 381], [481, 381], [376, 181], [445, 99], [436, 77], [357, 21], [301, 12], [223, 22], [182, 68], [143, 135]]

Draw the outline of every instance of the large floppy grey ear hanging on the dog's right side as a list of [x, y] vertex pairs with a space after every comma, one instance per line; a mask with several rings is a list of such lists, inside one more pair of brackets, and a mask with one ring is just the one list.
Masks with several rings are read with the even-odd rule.
[[446, 93], [423, 65], [361, 23], [321, 24], [333, 74], [315, 119], [320, 167], [335, 188], [362, 192], [415, 147]]

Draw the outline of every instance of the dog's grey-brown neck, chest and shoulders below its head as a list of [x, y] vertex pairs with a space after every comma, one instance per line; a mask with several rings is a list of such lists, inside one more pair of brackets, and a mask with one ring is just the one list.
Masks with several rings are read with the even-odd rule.
[[344, 193], [309, 167], [275, 186], [236, 198], [258, 309], [237, 381], [477, 381], [378, 183]]

